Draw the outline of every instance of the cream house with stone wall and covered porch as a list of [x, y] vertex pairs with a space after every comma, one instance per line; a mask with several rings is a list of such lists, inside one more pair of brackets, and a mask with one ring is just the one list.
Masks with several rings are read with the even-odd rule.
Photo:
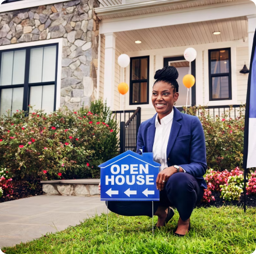
[[[197, 51], [191, 72], [196, 85], [189, 105], [216, 108], [245, 103], [256, 28], [250, 0], [4, 0], [0, 5], [0, 114], [11, 109], [76, 110], [103, 98], [112, 110], [150, 102], [154, 73], [165, 65], [179, 71], [177, 108], [186, 104], [182, 77], [187, 47]], [[131, 57], [120, 69], [117, 58]], [[125, 81], [129, 92], [118, 94]]]

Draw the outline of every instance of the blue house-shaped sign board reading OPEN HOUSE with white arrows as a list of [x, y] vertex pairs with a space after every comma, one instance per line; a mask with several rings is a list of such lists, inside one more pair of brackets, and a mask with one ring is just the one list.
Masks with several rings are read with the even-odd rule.
[[159, 201], [159, 166], [153, 153], [140, 155], [130, 150], [99, 165], [101, 201]]

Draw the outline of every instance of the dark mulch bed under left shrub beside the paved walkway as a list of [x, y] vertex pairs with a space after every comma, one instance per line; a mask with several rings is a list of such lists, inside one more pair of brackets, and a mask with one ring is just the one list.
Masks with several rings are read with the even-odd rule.
[[0, 203], [16, 200], [20, 198], [28, 198], [32, 196], [42, 195], [42, 184], [40, 180], [35, 185], [31, 185], [26, 181], [14, 181], [12, 182], [13, 194], [6, 197], [5, 195], [0, 198]]

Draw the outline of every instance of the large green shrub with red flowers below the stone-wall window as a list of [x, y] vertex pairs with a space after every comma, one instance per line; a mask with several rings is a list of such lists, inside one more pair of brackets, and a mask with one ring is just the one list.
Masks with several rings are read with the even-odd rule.
[[83, 108], [18, 111], [0, 121], [0, 167], [16, 179], [97, 178], [97, 165], [117, 153], [116, 131]]

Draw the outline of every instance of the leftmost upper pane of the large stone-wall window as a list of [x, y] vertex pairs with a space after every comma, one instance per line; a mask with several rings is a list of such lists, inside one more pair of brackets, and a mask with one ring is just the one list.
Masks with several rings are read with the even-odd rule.
[[1, 86], [12, 85], [13, 51], [3, 52], [1, 61]]

